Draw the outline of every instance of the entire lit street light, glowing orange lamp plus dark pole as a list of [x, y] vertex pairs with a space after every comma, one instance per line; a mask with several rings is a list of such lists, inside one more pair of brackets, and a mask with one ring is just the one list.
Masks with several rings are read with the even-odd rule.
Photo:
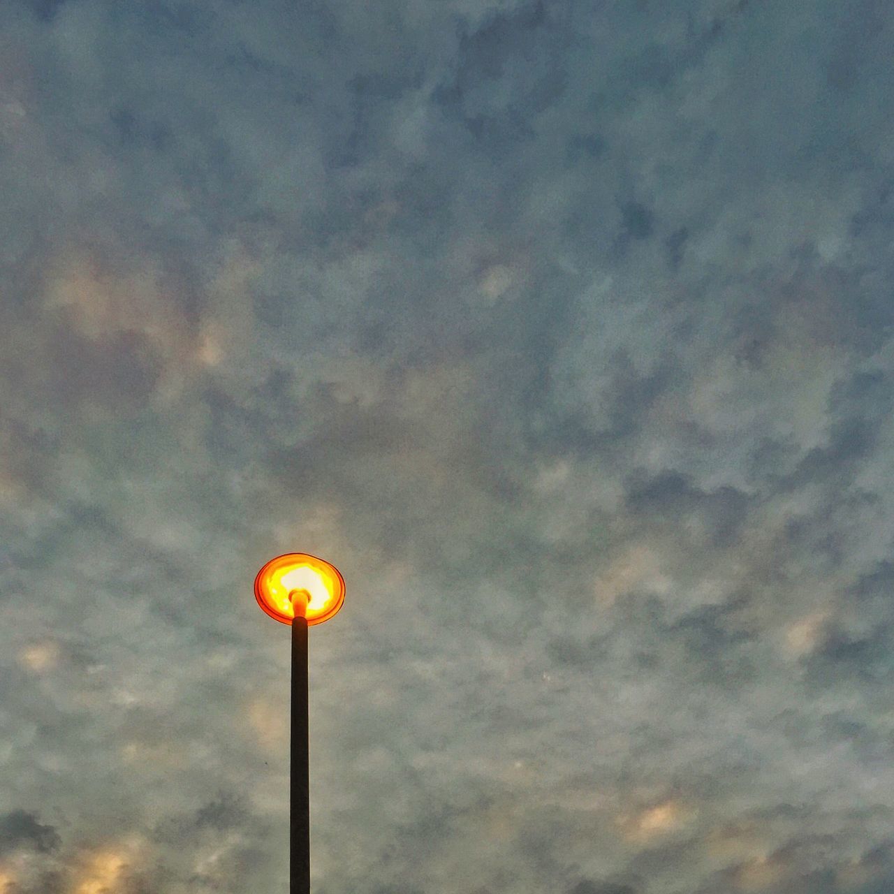
[[289, 890], [310, 894], [308, 627], [342, 608], [344, 578], [327, 561], [307, 552], [287, 552], [257, 572], [255, 598], [271, 618], [291, 624]]

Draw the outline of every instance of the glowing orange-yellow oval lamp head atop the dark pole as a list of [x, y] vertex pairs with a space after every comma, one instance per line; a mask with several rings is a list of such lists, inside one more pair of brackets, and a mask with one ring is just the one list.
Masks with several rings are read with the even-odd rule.
[[344, 602], [344, 578], [339, 570], [307, 552], [287, 552], [271, 559], [257, 572], [257, 604], [283, 624], [291, 624], [295, 617], [289, 598], [294, 590], [304, 590], [309, 595], [305, 611], [308, 627], [332, 618]]

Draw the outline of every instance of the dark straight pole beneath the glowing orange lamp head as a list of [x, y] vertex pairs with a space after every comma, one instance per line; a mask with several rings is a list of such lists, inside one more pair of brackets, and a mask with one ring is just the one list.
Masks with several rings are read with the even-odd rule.
[[291, 792], [289, 802], [289, 890], [291, 894], [310, 894], [309, 752], [308, 621], [302, 615], [291, 622]]

